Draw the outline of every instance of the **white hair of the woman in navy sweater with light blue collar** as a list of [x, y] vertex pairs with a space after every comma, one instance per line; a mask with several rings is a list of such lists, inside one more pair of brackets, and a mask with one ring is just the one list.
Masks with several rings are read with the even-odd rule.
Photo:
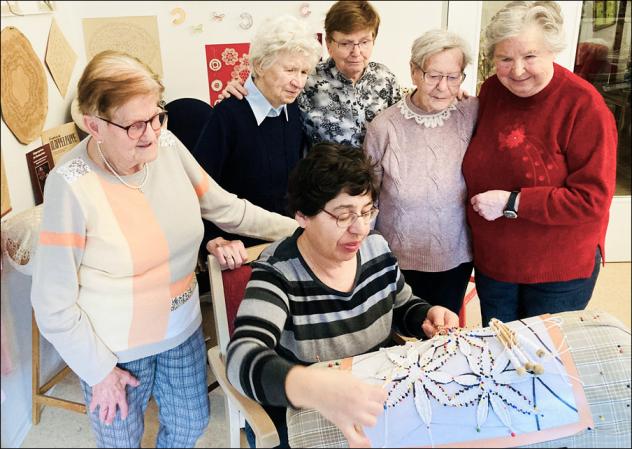
[[322, 55], [322, 47], [315, 33], [305, 23], [290, 15], [264, 21], [250, 43], [250, 66], [262, 70], [271, 67], [279, 52], [298, 53], [307, 57], [310, 72]]

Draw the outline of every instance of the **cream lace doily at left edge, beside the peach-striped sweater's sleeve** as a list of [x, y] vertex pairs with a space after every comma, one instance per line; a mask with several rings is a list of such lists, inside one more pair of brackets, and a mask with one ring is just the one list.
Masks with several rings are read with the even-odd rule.
[[43, 207], [32, 207], [2, 223], [2, 248], [9, 264], [20, 273], [33, 273], [33, 257], [39, 240]]

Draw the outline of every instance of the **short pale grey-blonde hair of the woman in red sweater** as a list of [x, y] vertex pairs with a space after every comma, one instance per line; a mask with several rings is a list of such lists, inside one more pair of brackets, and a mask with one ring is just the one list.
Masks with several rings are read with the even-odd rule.
[[514, 1], [498, 11], [485, 28], [485, 54], [494, 57], [496, 44], [518, 36], [530, 25], [538, 25], [545, 45], [553, 53], [566, 46], [564, 20], [559, 5], [553, 1]]

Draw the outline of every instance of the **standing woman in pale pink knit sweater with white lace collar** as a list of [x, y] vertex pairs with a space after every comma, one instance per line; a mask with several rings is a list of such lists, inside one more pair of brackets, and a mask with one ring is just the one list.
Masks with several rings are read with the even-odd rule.
[[457, 101], [467, 43], [432, 30], [412, 45], [417, 88], [368, 127], [364, 148], [378, 165], [381, 213], [375, 224], [413, 292], [459, 312], [472, 273], [461, 163], [478, 101]]

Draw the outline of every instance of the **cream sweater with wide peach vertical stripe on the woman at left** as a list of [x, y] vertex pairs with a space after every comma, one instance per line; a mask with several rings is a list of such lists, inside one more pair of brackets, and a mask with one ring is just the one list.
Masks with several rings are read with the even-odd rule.
[[47, 178], [31, 300], [44, 337], [94, 385], [116, 363], [176, 347], [199, 327], [201, 217], [266, 240], [296, 222], [223, 190], [169, 131], [143, 193], [97, 166], [87, 142]]

